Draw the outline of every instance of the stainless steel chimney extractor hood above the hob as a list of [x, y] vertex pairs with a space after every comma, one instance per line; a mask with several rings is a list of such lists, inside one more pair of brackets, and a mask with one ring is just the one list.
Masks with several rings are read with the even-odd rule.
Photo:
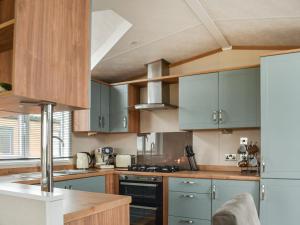
[[[149, 63], [147, 66], [147, 78], [153, 79], [169, 75], [169, 63], [160, 59]], [[170, 104], [170, 86], [163, 81], [149, 81], [147, 84], [147, 103], [135, 105], [139, 110], [172, 109], [177, 106]]]

